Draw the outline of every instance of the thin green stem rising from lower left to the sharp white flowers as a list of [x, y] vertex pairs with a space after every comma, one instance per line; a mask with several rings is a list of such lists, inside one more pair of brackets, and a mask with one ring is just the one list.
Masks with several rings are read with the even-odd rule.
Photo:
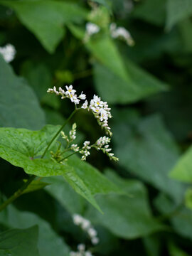
[[[58, 134], [60, 134], [60, 132], [63, 130], [63, 128], [65, 127], [65, 125], [68, 123], [68, 121], [73, 117], [73, 115], [75, 114], [75, 112], [78, 111], [78, 108], [75, 106], [75, 110], [70, 114], [70, 117], [68, 117], [68, 119], [65, 121], [65, 123], [63, 124], [62, 127], [60, 127], [60, 129], [58, 130], [58, 132], [55, 134], [55, 136], [51, 139], [51, 141], [49, 142], [48, 146], [46, 147], [46, 150], [43, 152], [41, 159], [43, 159], [43, 157], [46, 155], [46, 152], [48, 151], [50, 145], [54, 142], [54, 140], [56, 139], [56, 137], [58, 137]], [[26, 183], [23, 184], [23, 186], [21, 188], [18, 189], [18, 191], [16, 191], [14, 193], [14, 195], [10, 196], [10, 198], [8, 198], [6, 201], [4, 201], [4, 203], [1, 204], [0, 206], [0, 212], [1, 210], [4, 210], [4, 208], [6, 208], [6, 206], [8, 206], [10, 203], [12, 203], [13, 201], [16, 200], [16, 198], [18, 198], [19, 196], [21, 196], [21, 194], [23, 193], [23, 191], [28, 187], [29, 184], [31, 184], [31, 182], [36, 178], [35, 175], [31, 175], [28, 178], [28, 181], [26, 181]]]

